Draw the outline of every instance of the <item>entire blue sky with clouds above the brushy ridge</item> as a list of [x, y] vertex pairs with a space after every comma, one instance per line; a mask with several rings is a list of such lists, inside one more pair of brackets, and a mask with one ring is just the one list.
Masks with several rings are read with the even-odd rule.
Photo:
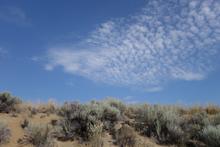
[[1, 0], [0, 91], [220, 104], [219, 0]]

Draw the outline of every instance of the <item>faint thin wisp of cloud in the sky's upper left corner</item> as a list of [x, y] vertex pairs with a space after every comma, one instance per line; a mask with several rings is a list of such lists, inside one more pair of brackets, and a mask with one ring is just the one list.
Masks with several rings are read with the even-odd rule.
[[26, 13], [19, 7], [0, 6], [0, 21], [28, 25], [29, 20]]

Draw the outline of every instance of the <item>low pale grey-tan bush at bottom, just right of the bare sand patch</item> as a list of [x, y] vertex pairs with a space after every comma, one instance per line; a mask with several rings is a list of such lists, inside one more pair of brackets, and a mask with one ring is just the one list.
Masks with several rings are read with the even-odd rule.
[[34, 147], [54, 147], [55, 141], [52, 138], [52, 128], [45, 124], [29, 124], [25, 128], [25, 135], [18, 143], [22, 145], [31, 144]]

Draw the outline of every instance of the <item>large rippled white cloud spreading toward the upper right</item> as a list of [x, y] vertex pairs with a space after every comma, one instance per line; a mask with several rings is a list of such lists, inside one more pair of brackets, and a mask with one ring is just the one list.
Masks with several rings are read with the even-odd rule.
[[45, 68], [158, 91], [172, 80], [204, 79], [219, 42], [219, 0], [153, 0], [132, 17], [101, 24], [73, 47], [49, 49]]

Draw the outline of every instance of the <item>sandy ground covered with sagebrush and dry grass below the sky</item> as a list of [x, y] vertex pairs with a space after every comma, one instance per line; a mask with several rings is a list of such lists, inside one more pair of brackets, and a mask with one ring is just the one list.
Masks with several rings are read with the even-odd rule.
[[220, 108], [116, 99], [28, 104], [0, 94], [1, 147], [219, 147]]

